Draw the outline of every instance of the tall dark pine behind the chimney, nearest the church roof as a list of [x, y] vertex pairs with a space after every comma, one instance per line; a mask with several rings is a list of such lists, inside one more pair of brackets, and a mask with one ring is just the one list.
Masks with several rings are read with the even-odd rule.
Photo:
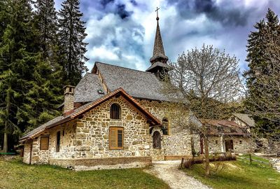
[[63, 47], [61, 55], [64, 56], [62, 66], [66, 71], [66, 80], [71, 85], [76, 85], [82, 73], [87, 71], [85, 62], [86, 45], [85, 22], [81, 20], [78, 0], [66, 0], [59, 10], [59, 43]]

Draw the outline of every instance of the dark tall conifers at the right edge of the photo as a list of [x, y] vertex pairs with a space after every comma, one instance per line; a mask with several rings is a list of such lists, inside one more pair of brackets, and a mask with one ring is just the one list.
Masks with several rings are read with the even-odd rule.
[[[267, 82], [274, 85], [273, 82], [262, 78], [276, 74], [271, 72], [273, 70], [271, 69], [272, 62], [267, 54], [274, 53], [271, 50], [269, 51], [272, 38], [280, 38], [279, 18], [269, 8], [265, 19], [257, 22], [254, 27], [255, 31], [252, 31], [248, 36], [248, 55], [246, 58], [248, 70], [244, 72], [248, 97], [245, 100], [245, 107], [249, 113], [253, 114], [258, 133], [268, 137], [273, 133], [279, 134], [279, 130], [276, 129], [280, 125], [279, 119], [272, 118], [277, 117], [279, 112], [271, 113], [269, 102], [279, 101], [280, 96], [274, 90], [274, 86], [267, 87]], [[279, 86], [276, 86], [276, 88], [279, 88]]]

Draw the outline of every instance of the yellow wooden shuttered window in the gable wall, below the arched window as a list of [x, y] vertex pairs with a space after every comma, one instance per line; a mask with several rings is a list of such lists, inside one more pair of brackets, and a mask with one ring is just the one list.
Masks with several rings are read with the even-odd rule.
[[123, 127], [109, 128], [109, 148], [111, 150], [123, 149]]

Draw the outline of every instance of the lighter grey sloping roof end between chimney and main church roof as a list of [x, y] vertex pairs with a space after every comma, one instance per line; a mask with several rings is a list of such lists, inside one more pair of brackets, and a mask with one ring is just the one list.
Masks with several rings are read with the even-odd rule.
[[85, 76], [75, 87], [75, 102], [92, 102], [104, 96], [104, 94], [99, 94], [97, 90], [103, 90], [99, 76], [93, 73], [85, 73]]

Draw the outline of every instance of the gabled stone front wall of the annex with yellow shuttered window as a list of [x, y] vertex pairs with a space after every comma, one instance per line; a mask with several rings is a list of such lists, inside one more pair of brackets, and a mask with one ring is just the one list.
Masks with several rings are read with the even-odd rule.
[[[111, 104], [121, 108], [121, 119], [110, 118]], [[124, 128], [123, 150], [109, 149], [109, 127]], [[139, 157], [150, 155], [151, 139], [146, 118], [123, 97], [109, 99], [77, 121], [75, 158]]]

